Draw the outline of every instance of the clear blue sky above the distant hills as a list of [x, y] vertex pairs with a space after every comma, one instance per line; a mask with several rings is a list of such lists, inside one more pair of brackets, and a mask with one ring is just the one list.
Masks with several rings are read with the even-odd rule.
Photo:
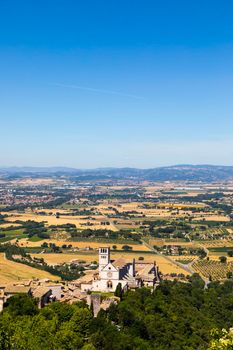
[[0, 165], [233, 164], [233, 2], [0, 1]]

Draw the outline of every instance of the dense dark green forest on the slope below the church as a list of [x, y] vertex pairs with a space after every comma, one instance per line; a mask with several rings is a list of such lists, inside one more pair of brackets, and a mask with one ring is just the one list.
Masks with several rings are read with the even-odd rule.
[[233, 282], [204, 289], [194, 275], [190, 283], [163, 281], [153, 293], [128, 291], [97, 318], [84, 303], [39, 310], [28, 296], [12, 297], [0, 315], [0, 349], [232, 349], [210, 345], [232, 325]]

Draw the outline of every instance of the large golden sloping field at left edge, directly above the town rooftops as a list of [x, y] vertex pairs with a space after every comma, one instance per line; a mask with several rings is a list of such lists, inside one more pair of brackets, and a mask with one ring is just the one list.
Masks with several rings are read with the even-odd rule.
[[50, 273], [33, 267], [16, 263], [5, 259], [5, 255], [0, 253], [0, 281], [1, 283], [9, 283], [20, 280], [28, 280], [33, 278], [49, 278], [57, 281], [60, 278]]

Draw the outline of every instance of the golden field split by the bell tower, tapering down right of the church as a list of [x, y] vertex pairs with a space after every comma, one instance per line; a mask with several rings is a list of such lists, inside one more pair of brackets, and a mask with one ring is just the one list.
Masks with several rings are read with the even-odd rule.
[[[88, 252], [88, 253], [75, 253], [75, 254], [32, 254], [35, 257], [43, 258], [48, 264], [59, 264], [64, 262], [70, 262], [72, 260], [84, 260], [86, 262], [91, 261], [98, 261], [98, 253], [95, 252]], [[144, 257], [144, 261], [148, 261], [153, 263], [154, 261], [159, 267], [159, 270], [163, 274], [169, 274], [169, 273], [183, 273], [187, 275], [187, 271], [182, 269], [181, 267], [173, 264], [172, 262], [168, 261], [165, 257], [161, 255], [155, 255], [155, 254], [144, 254], [143, 253], [114, 253], [111, 252], [111, 258], [113, 260], [118, 258], [125, 258], [127, 260], [132, 260], [135, 258], [136, 260], [140, 257]]]

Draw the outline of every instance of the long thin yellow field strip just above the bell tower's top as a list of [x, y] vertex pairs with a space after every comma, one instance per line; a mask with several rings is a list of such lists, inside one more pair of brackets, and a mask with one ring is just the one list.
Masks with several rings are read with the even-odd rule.
[[[63, 244], [72, 244], [73, 248], [93, 248], [93, 249], [97, 249], [99, 247], [112, 247], [113, 245], [117, 246], [117, 249], [121, 249], [122, 246], [124, 244], [118, 244], [118, 243], [101, 243], [101, 242], [72, 242], [72, 241], [58, 241], [55, 239], [45, 239], [45, 240], [41, 240], [39, 242], [31, 242], [29, 241], [27, 238], [23, 238], [19, 241], [19, 245], [21, 247], [40, 247], [41, 244], [43, 244], [44, 242], [47, 243], [55, 243], [57, 246], [61, 247]], [[137, 250], [144, 250], [144, 251], [150, 251], [150, 249], [148, 247], [146, 247], [143, 244], [128, 244], [130, 247], [133, 248], [134, 251]]]

